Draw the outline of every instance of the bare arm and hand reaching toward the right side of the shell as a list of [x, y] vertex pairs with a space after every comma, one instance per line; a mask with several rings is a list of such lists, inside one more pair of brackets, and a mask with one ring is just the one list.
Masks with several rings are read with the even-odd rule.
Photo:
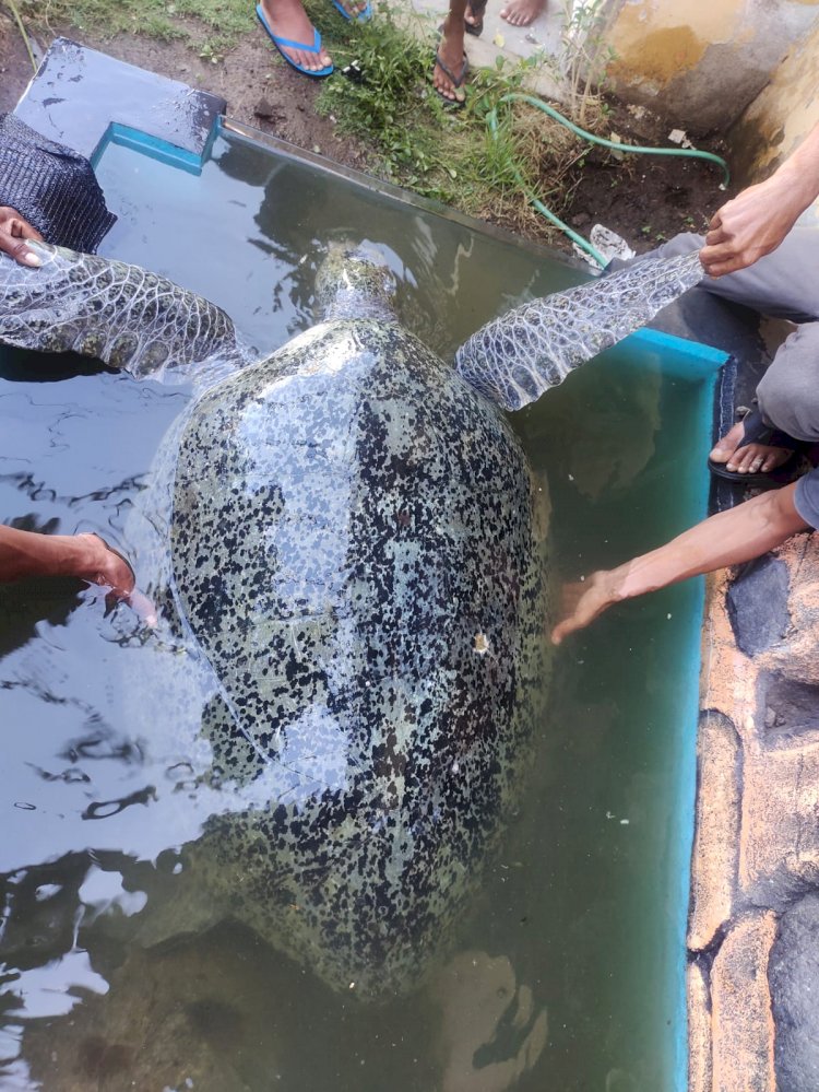
[[704, 519], [650, 553], [617, 568], [593, 573], [583, 584], [569, 585], [566, 617], [551, 631], [553, 643], [559, 645], [568, 634], [584, 629], [624, 599], [760, 557], [797, 531], [807, 530], [810, 525], [794, 505], [795, 492], [796, 482], [760, 493]]

